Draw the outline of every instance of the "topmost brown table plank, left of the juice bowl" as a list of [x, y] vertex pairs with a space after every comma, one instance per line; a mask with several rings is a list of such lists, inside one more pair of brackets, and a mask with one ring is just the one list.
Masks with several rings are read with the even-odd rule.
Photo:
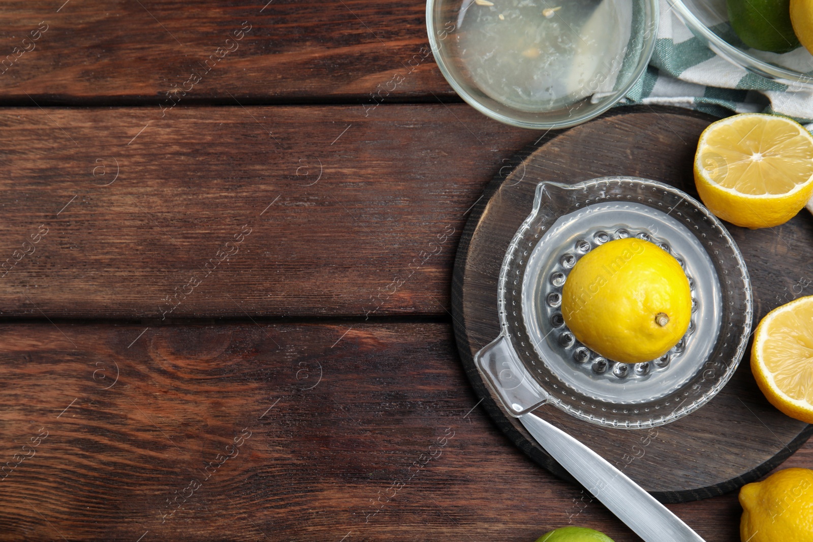
[[424, 11], [369, 0], [2, 2], [0, 100], [159, 111], [174, 89], [189, 91], [182, 102], [454, 98]]

